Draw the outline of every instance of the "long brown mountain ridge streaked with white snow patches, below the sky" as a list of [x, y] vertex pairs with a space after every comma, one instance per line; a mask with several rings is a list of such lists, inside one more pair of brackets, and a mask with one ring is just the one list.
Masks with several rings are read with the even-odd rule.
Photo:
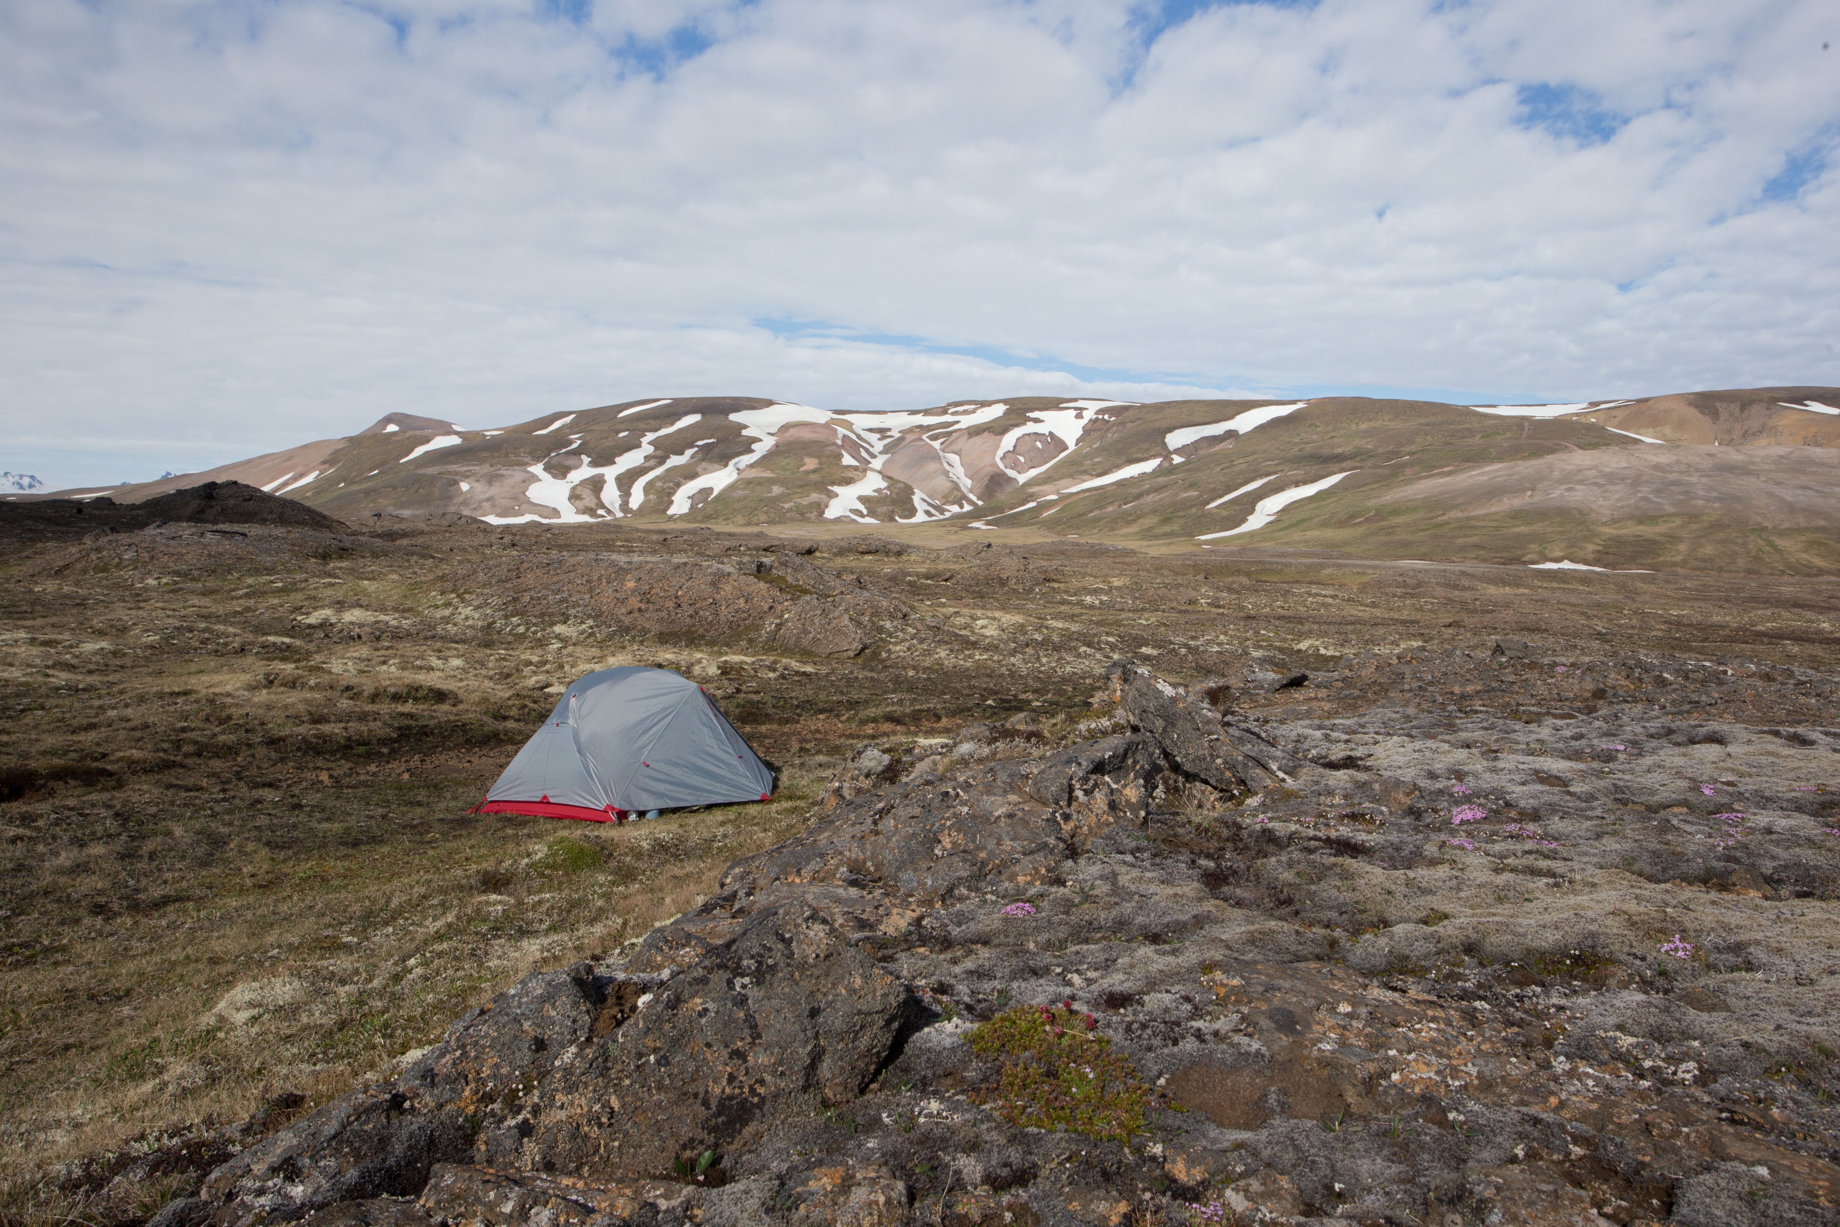
[[[239, 480], [348, 521], [834, 521], [1395, 554], [1465, 541], [1538, 561], [1558, 522], [1595, 526], [1568, 537], [1582, 554], [1599, 552], [1604, 524], [1654, 517], [1833, 537], [1836, 407], [1840, 390], [1814, 386], [1553, 407], [1012, 397], [828, 412], [661, 397], [488, 430], [390, 414], [210, 473], [70, 495], [134, 502]], [[1742, 458], [1702, 456], [1715, 449]], [[1814, 545], [1807, 565], [1827, 567]]]

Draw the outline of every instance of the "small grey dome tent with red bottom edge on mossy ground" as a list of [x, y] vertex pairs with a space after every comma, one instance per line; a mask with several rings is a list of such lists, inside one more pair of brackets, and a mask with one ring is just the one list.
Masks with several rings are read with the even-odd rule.
[[670, 670], [576, 681], [478, 813], [616, 822], [631, 811], [767, 800], [773, 771], [708, 694]]

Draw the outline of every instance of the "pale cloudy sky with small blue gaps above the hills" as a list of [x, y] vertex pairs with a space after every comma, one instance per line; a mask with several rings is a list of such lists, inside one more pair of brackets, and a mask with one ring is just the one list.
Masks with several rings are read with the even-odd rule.
[[1833, 0], [0, 0], [0, 469], [1840, 384]]

